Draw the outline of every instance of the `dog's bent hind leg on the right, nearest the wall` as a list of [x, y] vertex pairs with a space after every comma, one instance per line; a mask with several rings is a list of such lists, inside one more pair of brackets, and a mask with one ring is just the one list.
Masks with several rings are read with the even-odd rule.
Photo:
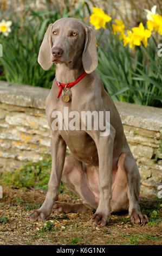
[[140, 175], [137, 164], [133, 156], [122, 153], [113, 184], [112, 212], [128, 209], [132, 223], [147, 223], [147, 216], [141, 214], [139, 192]]

